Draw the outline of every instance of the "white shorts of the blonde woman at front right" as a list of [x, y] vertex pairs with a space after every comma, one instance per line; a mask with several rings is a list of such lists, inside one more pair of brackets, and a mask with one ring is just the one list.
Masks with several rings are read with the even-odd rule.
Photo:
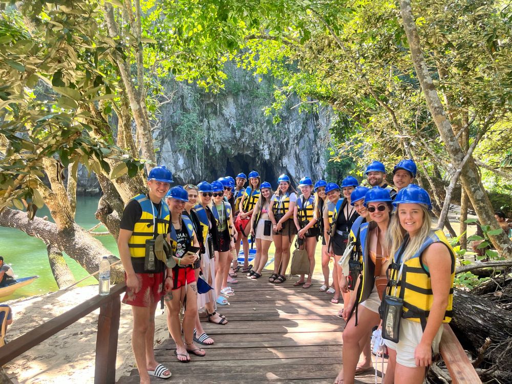
[[[443, 325], [439, 327], [434, 340], [432, 340], [432, 349], [434, 353], [439, 353], [439, 342], [443, 334]], [[416, 361], [414, 360], [414, 351], [421, 341], [423, 336], [423, 329], [421, 324], [402, 318], [400, 321], [400, 333], [398, 336], [398, 343], [384, 340], [386, 347], [396, 351], [396, 362], [404, 367], [416, 368]]]

